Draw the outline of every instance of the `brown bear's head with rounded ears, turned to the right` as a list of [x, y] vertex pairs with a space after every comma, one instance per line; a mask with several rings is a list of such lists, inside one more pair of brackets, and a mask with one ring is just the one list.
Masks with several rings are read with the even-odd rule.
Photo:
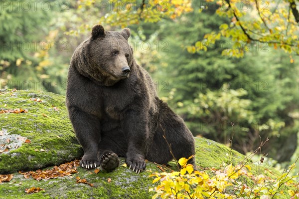
[[134, 70], [133, 49], [128, 42], [130, 35], [129, 28], [121, 32], [105, 31], [102, 25], [95, 25], [82, 46], [81, 53], [88, 64], [84, 64], [81, 71], [105, 85], [128, 78]]

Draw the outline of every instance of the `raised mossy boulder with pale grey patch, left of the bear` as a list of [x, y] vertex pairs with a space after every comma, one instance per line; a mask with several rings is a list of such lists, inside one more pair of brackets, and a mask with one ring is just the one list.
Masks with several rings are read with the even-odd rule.
[[[15, 109], [25, 111], [3, 113]], [[82, 157], [64, 96], [3, 91], [0, 111], [0, 174], [45, 168]]]

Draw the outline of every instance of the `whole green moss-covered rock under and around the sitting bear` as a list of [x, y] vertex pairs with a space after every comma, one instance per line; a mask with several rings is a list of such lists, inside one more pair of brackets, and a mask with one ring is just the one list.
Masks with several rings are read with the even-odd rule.
[[[36, 100], [37, 98], [41, 101]], [[154, 194], [148, 191], [154, 187], [149, 175], [161, 172], [161, 167], [148, 162], [146, 171], [138, 175], [122, 166], [124, 158], [121, 158], [121, 166], [110, 173], [100, 171], [95, 174], [93, 170], [78, 168], [78, 173], [72, 176], [39, 182], [31, 177], [25, 179], [16, 172], [51, 169], [46, 167], [80, 159], [83, 155], [67, 116], [65, 98], [53, 93], [6, 91], [0, 93], [0, 107], [2, 110], [21, 108], [27, 111], [0, 114], [3, 134], [0, 136], [1, 142], [5, 143], [10, 139], [9, 143], [5, 143], [10, 144], [9, 151], [0, 154], [0, 173], [13, 174], [10, 182], [0, 184], [0, 199], [151, 199]], [[25, 142], [27, 139], [30, 143]], [[195, 138], [195, 141], [199, 170], [208, 172], [209, 168], [223, 168], [224, 163], [236, 165], [245, 158], [217, 142], [205, 138]], [[251, 162], [247, 164], [252, 165], [253, 174], [277, 174], [272, 168], [255, 167]], [[174, 162], [169, 165], [170, 167], [164, 167], [166, 171], [177, 170]], [[76, 177], [86, 179], [94, 187], [76, 184]], [[247, 179], [244, 181], [248, 185], [252, 183]], [[31, 187], [39, 187], [44, 191], [26, 194], [25, 189]]]

